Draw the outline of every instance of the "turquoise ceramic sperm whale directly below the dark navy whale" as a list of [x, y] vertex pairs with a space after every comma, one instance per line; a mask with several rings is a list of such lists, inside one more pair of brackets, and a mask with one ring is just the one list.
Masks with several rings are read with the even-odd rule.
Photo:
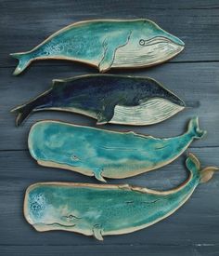
[[103, 177], [122, 179], [161, 168], [204, 134], [198, 118], [190, 120], [186, 133], [168, 139], [47, 120], [32, 126], [28, 146], [42, 166], [66, 168], [106, 182]]

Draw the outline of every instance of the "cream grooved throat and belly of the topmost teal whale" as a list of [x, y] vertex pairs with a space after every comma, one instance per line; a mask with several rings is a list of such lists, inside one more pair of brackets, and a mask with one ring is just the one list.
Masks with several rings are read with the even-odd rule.
[[144, 47], [135, 44], [119, 47], [115, 52], [112, 67], [150, 66], [167, 61], [183, 50], [183, 47], [159, 37], [149, 40], [148, 45]]

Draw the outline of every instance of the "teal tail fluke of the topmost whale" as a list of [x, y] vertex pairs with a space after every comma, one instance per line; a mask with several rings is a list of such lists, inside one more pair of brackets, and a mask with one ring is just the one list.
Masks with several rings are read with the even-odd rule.
[[14, 75], [23, 72], [32, 61], [32, 55], [30, 52], [11, 53], [10, 56], [19, 60], [19, 64], [13, 73]]

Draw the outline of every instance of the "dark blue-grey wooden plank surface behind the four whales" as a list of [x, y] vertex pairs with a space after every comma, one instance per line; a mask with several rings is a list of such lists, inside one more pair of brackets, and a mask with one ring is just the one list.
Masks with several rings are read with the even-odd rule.
[[[0, 255], [218, 255], [219, 175], [199, 186], [187, 204], [173, 216], [148, 229], [125, 236], [106, 237], [99, 243], [91, 237], [65, 232], [37, 233], [25, 222], [22, 201], [33, 182], [94, 182], [68, 170], [39, 167], [27, 151], [27, 135], [39, 119], [51, 118], [76, 124], [95, 125], [85, 116], [56, 112], [37, 113], [20, 128], [9, 110], [50, 87], [51, 79], [96, 73], [83, 64], [69, 61], [38, 61], [18, 77], [17, 62], [9, 53], [28, 50], [49, 34], [78, 20], [148, 18], [181, 38], [185, 50], [161, 66], [127, 70], [116, 74], [151, 76], [186, 101], [185, 111], [148, 128], [105, 126], [157, 137], [184, 132], [187, 120], [200, 116], [200, 128], [208, 135], [193, 148], [203, 166], [219, 166], [219, 4], [217, 0], [0, 0]], [[111, 72], [112, 73], [112, 72]], [[113, 71], [113, 73], [115, 73]], [[185, 155], [171, 165], [129, 182], [153, 189], [169, 189], [186, 176]]]

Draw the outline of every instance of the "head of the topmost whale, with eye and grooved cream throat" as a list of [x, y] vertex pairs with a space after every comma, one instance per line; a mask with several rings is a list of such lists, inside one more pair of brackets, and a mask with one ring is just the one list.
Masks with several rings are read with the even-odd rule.
[[117, 48], [113, 67], [142, 67], [172, 59], [185, 47], [183, 41], [150, 20], [138, 20], [127, 43]]

